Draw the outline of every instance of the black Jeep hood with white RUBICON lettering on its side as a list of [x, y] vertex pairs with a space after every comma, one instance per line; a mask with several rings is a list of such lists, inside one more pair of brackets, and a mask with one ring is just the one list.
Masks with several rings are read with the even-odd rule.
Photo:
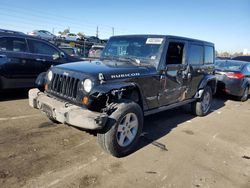
[[61, 74], [74, 74], [86, 77], [98, 78], [100, 73], [106, 80], [138, 77], [145, 74], [155, 73], [156, 68], [153, 65], [140, 66], [130, 62], [117, 61], [80, 61], [75, 63], [66, 63], [52, 67], [53, 71]]

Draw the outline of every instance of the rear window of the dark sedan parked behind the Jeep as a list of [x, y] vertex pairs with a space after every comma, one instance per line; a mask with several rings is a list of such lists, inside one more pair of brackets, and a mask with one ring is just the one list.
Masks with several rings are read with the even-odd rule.
[[242, 68], [242, 63], [237, 61], [216, 61], [215, 68], [219, 70], [227, 71], [240, 71]]

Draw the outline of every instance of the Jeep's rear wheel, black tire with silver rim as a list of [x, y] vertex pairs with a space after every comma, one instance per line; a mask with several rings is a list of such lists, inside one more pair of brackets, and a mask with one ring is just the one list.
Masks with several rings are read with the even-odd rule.
[[[204, 105], [205, 100], [208, 104]], [[207, 101], [209, 100], [209, 101]], [[209, 86], [206, 86], [200, 100], [192, 103], [192, 112], [196, 116], [205, 116], [210, 112], [212, 104], [212, 90]]]

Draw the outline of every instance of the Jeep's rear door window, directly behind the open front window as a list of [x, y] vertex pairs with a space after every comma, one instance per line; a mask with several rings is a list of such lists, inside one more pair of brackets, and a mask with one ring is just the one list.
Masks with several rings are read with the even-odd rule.
[[194, 44], [190, 45], [188, 62], [191, 65], [203, 64], [203, 46]]

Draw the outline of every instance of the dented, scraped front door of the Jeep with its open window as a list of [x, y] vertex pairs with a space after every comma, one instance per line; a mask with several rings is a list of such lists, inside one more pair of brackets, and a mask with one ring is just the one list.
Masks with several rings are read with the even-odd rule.
[[166, 66], [161, 71], [159, 93], [160, 106], [183, 101], [190, 89], [190, 66], [185, 63], [185, 41], [169, 41]]

